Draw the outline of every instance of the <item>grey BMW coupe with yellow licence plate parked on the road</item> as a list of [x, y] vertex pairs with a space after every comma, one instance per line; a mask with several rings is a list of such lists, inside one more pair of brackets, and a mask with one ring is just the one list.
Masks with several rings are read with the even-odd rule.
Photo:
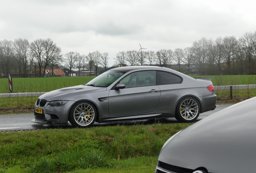
[[90, 127], [96, 122], [175, 117], [192, 122], [215, 109], [209, 78], [192, 78], [158, 66], [108, 70], [86, 84], [41, 95], [33, 123]]

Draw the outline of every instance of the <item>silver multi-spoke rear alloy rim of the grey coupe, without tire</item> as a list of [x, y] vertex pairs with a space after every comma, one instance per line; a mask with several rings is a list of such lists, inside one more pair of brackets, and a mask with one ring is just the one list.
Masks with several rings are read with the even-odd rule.
[[198, 114], [198, 104], [193, 99], [185, 99], [180, 105], [180, 115], [186, 120], [194, 119]]

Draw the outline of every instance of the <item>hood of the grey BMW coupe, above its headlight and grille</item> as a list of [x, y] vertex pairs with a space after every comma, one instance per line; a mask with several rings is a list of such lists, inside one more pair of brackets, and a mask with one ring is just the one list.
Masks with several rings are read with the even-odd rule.
[[74, 95], [106, 91], [106, 89], [107, 88], [105, 87], [102, 88], [102, 87], [93, 87], [93, 86], [87, 86], [87, 85], [77, 85], [74, 87], [67, 87], [67, 88], [50, 91], [48, 93], [41, 95], [39, 99], [45, 99], [47, 101], [70, 100], [71, 96], [74, 96]]

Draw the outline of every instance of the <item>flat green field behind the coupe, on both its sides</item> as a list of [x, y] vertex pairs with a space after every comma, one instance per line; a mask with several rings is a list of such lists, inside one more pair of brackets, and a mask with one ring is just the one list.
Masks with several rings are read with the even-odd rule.
[[[88, 82], [95, 76], [81, 77], [47, 77], [47, 78], [12, 78], [13, 92], [48, 92], [64, 87], [71, 87]], [[214, 86], [256, 84], [256, 75], [227, 75], [227, 76], [192, 76], [208, 77]], [[8, 78], [0, 79], [0, 93], [8, 93]]]

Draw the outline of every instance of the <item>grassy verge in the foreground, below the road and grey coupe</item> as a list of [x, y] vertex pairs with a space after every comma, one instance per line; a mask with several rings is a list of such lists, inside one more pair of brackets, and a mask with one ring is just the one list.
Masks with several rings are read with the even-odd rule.
[[0, 133], [0, 173], [153, 172], [165, 141], [189, 125]]

